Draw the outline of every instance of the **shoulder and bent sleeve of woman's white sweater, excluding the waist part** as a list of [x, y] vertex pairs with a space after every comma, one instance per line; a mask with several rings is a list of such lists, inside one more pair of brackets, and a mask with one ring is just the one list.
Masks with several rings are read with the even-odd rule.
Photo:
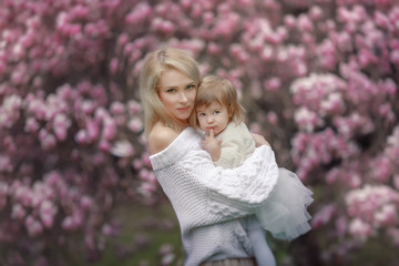
[[206, 226], [255, 213], [278, 177], [273, 150], [257, 147], [241, 166], [224, 170], [216, 167], [201, 149], [201, 136], [193, 143], [180, 137], [162, 154], [151, 157], [182, 227]]

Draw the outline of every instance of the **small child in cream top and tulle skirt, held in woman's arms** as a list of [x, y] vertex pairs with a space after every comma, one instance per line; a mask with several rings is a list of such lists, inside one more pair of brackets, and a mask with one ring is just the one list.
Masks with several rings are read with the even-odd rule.
[[[228, 80], [209, 75], [201, 82], [191, 123], [205, 132], [203, 147], [215, 165], [236, 167], [255, 151], [254, 137], [243, 123], [244, 112]], [[313, 202], [311, 194], [293, 172], [279, 168], [277, 184], [256, 217], [242, 221], [259, 266], [276, 265], [263, 228], [287, 241], [310, 229], [306, 207]]]

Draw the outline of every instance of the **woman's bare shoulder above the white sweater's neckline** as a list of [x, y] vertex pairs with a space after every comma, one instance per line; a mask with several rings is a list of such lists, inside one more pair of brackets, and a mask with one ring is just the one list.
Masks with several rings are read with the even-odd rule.
[[165, 150], [177, 136], [178, 134], [171, 127], [156, 123], [149, 134], [151, 154]]

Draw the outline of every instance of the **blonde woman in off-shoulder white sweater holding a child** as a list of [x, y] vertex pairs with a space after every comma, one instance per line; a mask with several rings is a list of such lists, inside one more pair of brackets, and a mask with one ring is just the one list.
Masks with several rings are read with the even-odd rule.
[[233, 170], [215, 167], [201, 135], [187, 126], [201, 81], [196, 61], [167, 48], [146, 58], [141, 73], [151, 163], [181, 226], [185, 265], [255, 265], [238, 218], [253, 214], [276, 184], [267, 142]]

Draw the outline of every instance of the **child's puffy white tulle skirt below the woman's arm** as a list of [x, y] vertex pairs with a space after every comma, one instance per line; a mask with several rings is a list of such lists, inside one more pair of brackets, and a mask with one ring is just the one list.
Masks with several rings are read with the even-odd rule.
[[307, 206], [314, 201], [311, 195], [295, 173], [279, 168], [275, 188], [256, 217], [274, 237], [291, 241], [310, 229]]

